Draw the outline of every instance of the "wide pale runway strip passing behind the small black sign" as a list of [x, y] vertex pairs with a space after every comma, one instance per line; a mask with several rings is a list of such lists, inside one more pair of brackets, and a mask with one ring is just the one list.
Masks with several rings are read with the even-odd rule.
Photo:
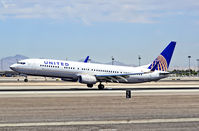
[[[80, 96], [125, 96], [124, 90], [104, 90], [104, 91], [3, 91], [0, 98], [9, 97], [80, 97]], [[132, 90], [133, 96], [145, 95], [198, 95], [199, 89], [190, 90]]]

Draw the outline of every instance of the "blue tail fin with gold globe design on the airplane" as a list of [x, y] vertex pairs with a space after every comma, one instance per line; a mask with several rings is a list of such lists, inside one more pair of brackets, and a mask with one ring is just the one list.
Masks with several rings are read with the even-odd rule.
[[167, 71], [175, 49], [176, 42], [171, 41], [171, 43], [162, 51], [162, 53], [153, 61], [153, 63], [148, 67], [148, 69], [153, 69], [154, 66], [156, 70]]

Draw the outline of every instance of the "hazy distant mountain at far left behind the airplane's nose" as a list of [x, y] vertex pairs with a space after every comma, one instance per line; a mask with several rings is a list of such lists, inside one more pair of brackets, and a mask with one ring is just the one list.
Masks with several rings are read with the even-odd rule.
[[27, 59], [28, 57], [23, 56], [23, 55], [16, 55], [16, 56], [9, 56], [2, 58], [0, 60], [0, 70], [1, 71], [9, 71], [10, 70], [10, 65], [16, 63], [19, 60]]

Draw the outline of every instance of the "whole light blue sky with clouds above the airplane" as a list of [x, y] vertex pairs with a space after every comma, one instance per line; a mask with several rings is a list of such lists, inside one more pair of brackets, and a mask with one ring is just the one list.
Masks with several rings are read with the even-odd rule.
[[0, 58], [151, 63], [169, 44], [172, 66], [196, 66], [198, 0], [0, 0]]

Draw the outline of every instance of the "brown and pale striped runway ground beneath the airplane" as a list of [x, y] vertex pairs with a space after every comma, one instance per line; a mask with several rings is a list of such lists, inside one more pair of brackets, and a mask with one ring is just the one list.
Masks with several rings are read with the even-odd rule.
[[0, 130], [198, 130], [199, 84], [157, 85], [0, 86]]

